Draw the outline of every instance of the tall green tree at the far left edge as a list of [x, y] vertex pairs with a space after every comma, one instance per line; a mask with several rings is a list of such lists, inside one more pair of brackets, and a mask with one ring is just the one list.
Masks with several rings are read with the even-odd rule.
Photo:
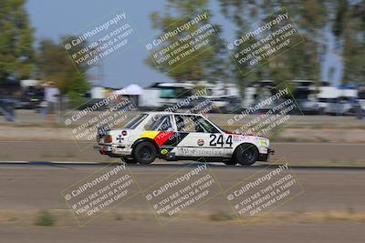
[[28, 78], [34, 67], [33, 28], [25, 0], [0, 1], [0, 84], [8, 76]]

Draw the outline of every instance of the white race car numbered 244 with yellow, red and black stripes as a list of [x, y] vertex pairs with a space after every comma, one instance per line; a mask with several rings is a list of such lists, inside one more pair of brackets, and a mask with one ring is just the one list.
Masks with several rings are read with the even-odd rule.
[[202, 115], [166, 112], [141, 113], [123, 128], [99, 132], [96, 148], [102, 155], [140, 164], [159, 157], [252, 165], [274, 154], [265, 137], [224, 131]]

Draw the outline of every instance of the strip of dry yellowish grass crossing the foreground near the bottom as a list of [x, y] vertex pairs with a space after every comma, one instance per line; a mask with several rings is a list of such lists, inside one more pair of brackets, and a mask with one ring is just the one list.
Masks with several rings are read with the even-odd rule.
[[[46, 213], [45, 213], [46, 212]], [[172, 218], [161, 218], [172, 219]], [[239, 220], [235, 213], [227, 211], [216, 212], [187, 212], [177, 218], [203, 220], [205, 222], [219, 223], [230, 222], [236, 224]], [[112, 210], [104, 213], [95, 220], [139, 220], [151, 221], [156, 220], [151, 211], [120, 211]], [[365, 213], [357, 213], [348, 208], [347, 211], [341, 212], [267, 212], [257, 215], [254, 218], [245, 218], [245, 224], [266, 225], [266, 224], [293, 224], [293, 223], [328, 223], [335, 221], [350, 221], [365, 223]], [[51, 209], [51, 210], [1, 210], [0, 223], [13, 226], [32, 227], [36, 226], [53, 226], [57, 221], [57, 227], [75, 226], [77, 221], [72, 212], [68, 209]]]

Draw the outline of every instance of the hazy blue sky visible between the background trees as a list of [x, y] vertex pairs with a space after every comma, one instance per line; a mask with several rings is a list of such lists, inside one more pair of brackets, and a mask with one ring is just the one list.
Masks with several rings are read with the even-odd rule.
[[[211, 1], [214, 23], [223, 26], [224, 35], [234, 34], [234, 26], [222, 16], [219, 5]], [[36, 41], [51, 38], [58, 41], [61, 36], [77, 34], [81, 29], [92, 25], [95, 20], [109, 15], [116, 8], [123, 7], [141, 38], [156, 35], [158, 30], [151, 28], [151, 11], [164, 10], [164, 0], [28, 0], [26, 8], [31, 25], [36, 28]], [[155, 82], [170, 80], [155, 69], [144, 64], [147, 51], [141, 43], [133, 45], [115, 57], [103, 59], [104, 86], [123, 87], [129, 84], [150, 86]], [[332, 58], [327, 57], [328, 60]], [[328, 66], [328, 62], [326, 66]], [[328, 68], [328, 67], [327, 67]], [[322, 70], [323, 71], [323, 70]], [[91, 71], [96, 76], [97, 70]], [[326, 72], [322, 72], [322, 78]], [[326, 78], [327, 79], [327, 78]]]

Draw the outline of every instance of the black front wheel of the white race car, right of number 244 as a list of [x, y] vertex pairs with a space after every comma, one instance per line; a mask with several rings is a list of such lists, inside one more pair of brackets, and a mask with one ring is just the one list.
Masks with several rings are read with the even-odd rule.
[[232, 159], [242, 166], [251, 166], [258, 159], [258, 149], [255, 145], [243, 144], [235, 148]]

